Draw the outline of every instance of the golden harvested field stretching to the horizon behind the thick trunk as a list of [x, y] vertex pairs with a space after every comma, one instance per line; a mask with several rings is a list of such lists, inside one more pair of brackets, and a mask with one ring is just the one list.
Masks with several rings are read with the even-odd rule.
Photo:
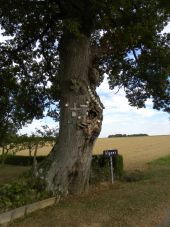
[[[38, 150], [38, 155], [47, 155], [50, 146]], [[93, 154], [101, 154], [106, 149], [118, 149], [123, 155], [125, 170], [143, 169], [146, 164], [162, 156], [170, 155], [170, 135], [122, 138], [99, 138], [93, 148]], [[28, 151], [18, 154], [28, 155]]]

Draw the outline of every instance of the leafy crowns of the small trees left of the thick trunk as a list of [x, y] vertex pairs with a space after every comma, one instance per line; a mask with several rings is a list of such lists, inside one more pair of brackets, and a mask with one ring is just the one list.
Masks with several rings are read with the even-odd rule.
[[[10, 157], [9, 154], [12, 153], [15, 155], [17, 152], [22, 150], [28, 150], [29, 156], [34, 156], [34, 158], [36, 158], [39, 148], [46, 146], [47, 144], [53, 145], [56, 143], [58, 129], [51, 129], [47, 125], [43, 125], [42, 128], [43, 130], [37, 129], [36, 133], [31, 136], [12, 134], [12, 130], [10, 133], [6, 133], [6, 137], [4, 137], [3, 141], [0, 143], [0, 147], [2, 147], [2, 156], [0, 157], [1, 163], [5, 163], [6, 159], [7, 162], [11, 162], [11, 160], [13, 162], [13, 160], [15, 160], [14, 163], [17, 163], [17, 158]], [[25, 161], [23, 163], [26, 164]], [[32, 163], [32, 158], [30, 158], [28, 163]]]

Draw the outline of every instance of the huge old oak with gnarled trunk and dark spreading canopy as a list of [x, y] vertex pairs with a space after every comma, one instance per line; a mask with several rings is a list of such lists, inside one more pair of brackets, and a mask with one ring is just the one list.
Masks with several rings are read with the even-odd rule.
[[60, 109], [59, 142], [36, 173], [48, 191], [88, 188], [104, 73], [130, 105], [152, 98], [170, 112], [170, 36], [161, 33], [169, 13], [168, 0], [1, 0], [11, 37], [0, 45], [1, 110], [12, 102], [11, 118], [24, 124]]

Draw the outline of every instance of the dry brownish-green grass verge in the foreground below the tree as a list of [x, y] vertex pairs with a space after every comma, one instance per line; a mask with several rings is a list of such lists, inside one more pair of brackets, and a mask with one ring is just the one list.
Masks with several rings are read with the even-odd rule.
[[170, 157], [151, 162], [143, 172], [127, 173], [126, 180], [92, 186], [89, 194], [69, 196], [10, 226], [157, 226], [170, 209]]

